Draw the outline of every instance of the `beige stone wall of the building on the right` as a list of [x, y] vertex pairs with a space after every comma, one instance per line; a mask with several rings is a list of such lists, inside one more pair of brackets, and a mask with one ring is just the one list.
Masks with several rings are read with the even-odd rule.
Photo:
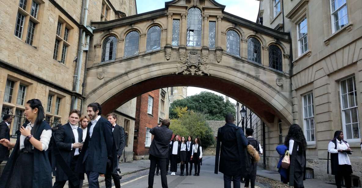
[[[261, 1], [261, 12], [263, 25], [274, 28], [275, 21], [272, 22], [269, 16], [268, 4], [271, 0]], [[362, 64], [362, 1], [346, 0], [346, 10], [348, 23], [341, 29], [334, 31], [331, 19], [331, 2], [324, 1], [282, 1], [284, 2], [284, 29], [291, 34], [292, 52], [292, 102], [293, 121], [301, 125], [305, 130], [307, 127], [304, 120], [303, 96], [308, 93], [313, 94], [313, 119], [315, 141], [308, 142], [307, 167], [313, 168], [315, 178], [333, 180], [332, 175], [327, 175], [327, 149], [329, 140], [333, 138], [334, 131], [344, 131], [345, 140], [346, 126], [344, 125], [344, 115], [341, 109], [341, 87], [340, 81], [344, 78], [354, 76], [356, 103], [358, 110], [357, 122], [361, 117], [361, 64]], [[260, 18], [258, 17], [258, 20]], [[282, 16], [279, 16], [282, 17]], [[304, 53], [299, 51], [298, 24], [304, 18], [307, 19], [307, 47]], [[278, 23], [282, 20], [278, 18]], [[273, 125], [266, 127], [267, 143], [275, 142], [278, 131], [277, 120]], [[283, 137], [287, 134], [287, 127], [283, 124]], [[358, 132], [355, 139], [347, 139], [350, 148], [359, 151], [361, 146], [361, 124], [357, 123]], [[307, 136], [307, 132], [305, 131]], [[268, 138], [269, 137], [269, 138]], [[270, 146], [270, 152], [273, 152]], [[276, 153], [274, 151], [274, 153]], [[268, 167], [275, 170], [271, 165], [276, 156], [268, 155]], [[355, 152], [350, 155], [354, 175], [362, 177], [361, 153]]]

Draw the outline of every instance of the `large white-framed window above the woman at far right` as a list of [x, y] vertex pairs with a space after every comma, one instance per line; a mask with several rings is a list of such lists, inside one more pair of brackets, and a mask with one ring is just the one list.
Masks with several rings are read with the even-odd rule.
[[359, 141], [358, 103], [355, 77], [340, 81], [343, 132], [347, 140]]

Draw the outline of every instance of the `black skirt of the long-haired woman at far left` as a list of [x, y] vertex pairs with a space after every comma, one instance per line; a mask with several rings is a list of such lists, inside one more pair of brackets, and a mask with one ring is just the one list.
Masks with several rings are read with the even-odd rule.
[[10, 178], [9, 188], [33, 187], [33, 174], [34, 153], [23, 153], [20, 151]]

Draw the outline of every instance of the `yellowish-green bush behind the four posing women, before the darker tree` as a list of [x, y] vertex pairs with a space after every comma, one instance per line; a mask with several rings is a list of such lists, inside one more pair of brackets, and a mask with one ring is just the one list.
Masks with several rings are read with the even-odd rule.
[[189, 111], [180, 119], [172, 119], [170, 129], [174, 134], [184, 136], [186, 140], [189, 135], [193, 139], [199, 137], [204, 148], [215, 144], [212, 129], [206, 122], [206, 115], [200, 112]]

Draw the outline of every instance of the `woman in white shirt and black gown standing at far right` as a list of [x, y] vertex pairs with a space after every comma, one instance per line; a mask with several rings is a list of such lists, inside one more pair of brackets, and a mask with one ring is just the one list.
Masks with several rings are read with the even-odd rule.
[[[342, 177], [347, 188], [351, 187], [352, 166], [349, 160], [348, 151], [351, 151], [349, 144], [343, 140], [343, 132], [334, 132], [333, 139], [328, 144], [328, 152], [331, 153], [332, 175], [336, 180], [337, 188], [341, 188]], [[328, 158], [329, 158], [328, 153]], [[327, 162], [328, 164], [328, 162]], [[327, 167], [328, 171], [328, 167]]]

